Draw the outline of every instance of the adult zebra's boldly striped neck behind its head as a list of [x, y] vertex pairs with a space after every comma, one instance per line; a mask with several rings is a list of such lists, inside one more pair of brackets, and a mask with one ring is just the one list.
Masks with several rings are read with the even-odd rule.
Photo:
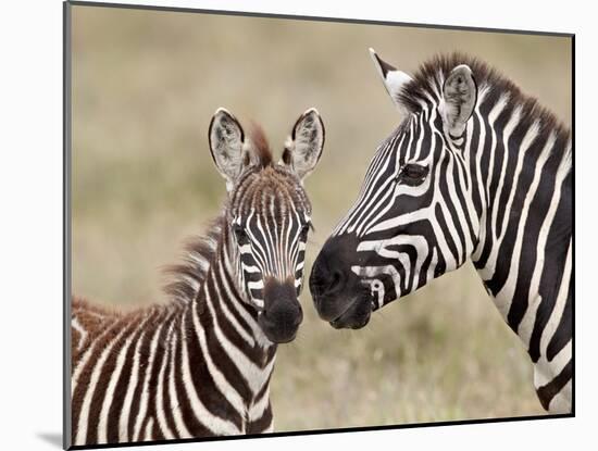
[[[545, 261], [565, 266], [572, 217], [569, 130], [518, 96], [482, 89], [466, 131], [479, 218], [472, 260], [515, 333], [538, 296]], [[569, 237], [562, 243], [552, 236], [555, 224], [561, 238]]]

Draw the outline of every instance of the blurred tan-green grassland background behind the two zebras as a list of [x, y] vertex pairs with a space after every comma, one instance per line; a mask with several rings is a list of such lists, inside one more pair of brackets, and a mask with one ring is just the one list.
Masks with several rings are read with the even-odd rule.
[[[369, 47], [407, 72], [438, 52], [477, 55], [571, 121], [566, 38], [83, 5], [72, 38], [73, 292], [112, 305], [163, 301], [161, 267], [217, 215], [225, 187], [207, 129], [219, 107], [260, 122], [276, 151], [301, 112], [322, 114], [307, 275], [400, 120]], [[276, 430], [544, 413], [471, 264], [358, 331], [320, 321], [307, 289], [301, 302], [273, 377]]]

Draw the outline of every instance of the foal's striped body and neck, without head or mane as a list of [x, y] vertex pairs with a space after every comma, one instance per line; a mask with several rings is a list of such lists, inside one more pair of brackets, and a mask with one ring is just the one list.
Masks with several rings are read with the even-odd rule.
[[[88, 326], [95, 337], [82, 337], [73, 365], [74, 444], [271, 430], [276, 347], [231, 270], [214, 260], [186, 304], [105, 313]], [[75, 302], [75, 320], [89, 323], [84, 306]]]

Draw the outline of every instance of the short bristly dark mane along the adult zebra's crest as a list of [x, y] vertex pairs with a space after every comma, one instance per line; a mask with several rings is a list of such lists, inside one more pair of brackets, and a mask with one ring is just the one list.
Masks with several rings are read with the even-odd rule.
[[540, 105], [536, 98], [523, 93], [513, 82], [487, 63], [464, 53], [439, 54], [423, 63], [413, 79], [403, 86], [399, 95], [401, 104], [411, 112], [421, 110], [422, 102], [429, 102], [431, 96], [438, 98], [444, 80], [460, 64], [470, 66], [478, 90], [489, 89], [487, 96], [498, 97], [508, 93], [509, 102], [521, 105], [522, 121], [528, 121], [531, 124], [539, 120], [545, 133], [553, 131], [563, 140], [569, 138], [569, 127], [551, 111]]

